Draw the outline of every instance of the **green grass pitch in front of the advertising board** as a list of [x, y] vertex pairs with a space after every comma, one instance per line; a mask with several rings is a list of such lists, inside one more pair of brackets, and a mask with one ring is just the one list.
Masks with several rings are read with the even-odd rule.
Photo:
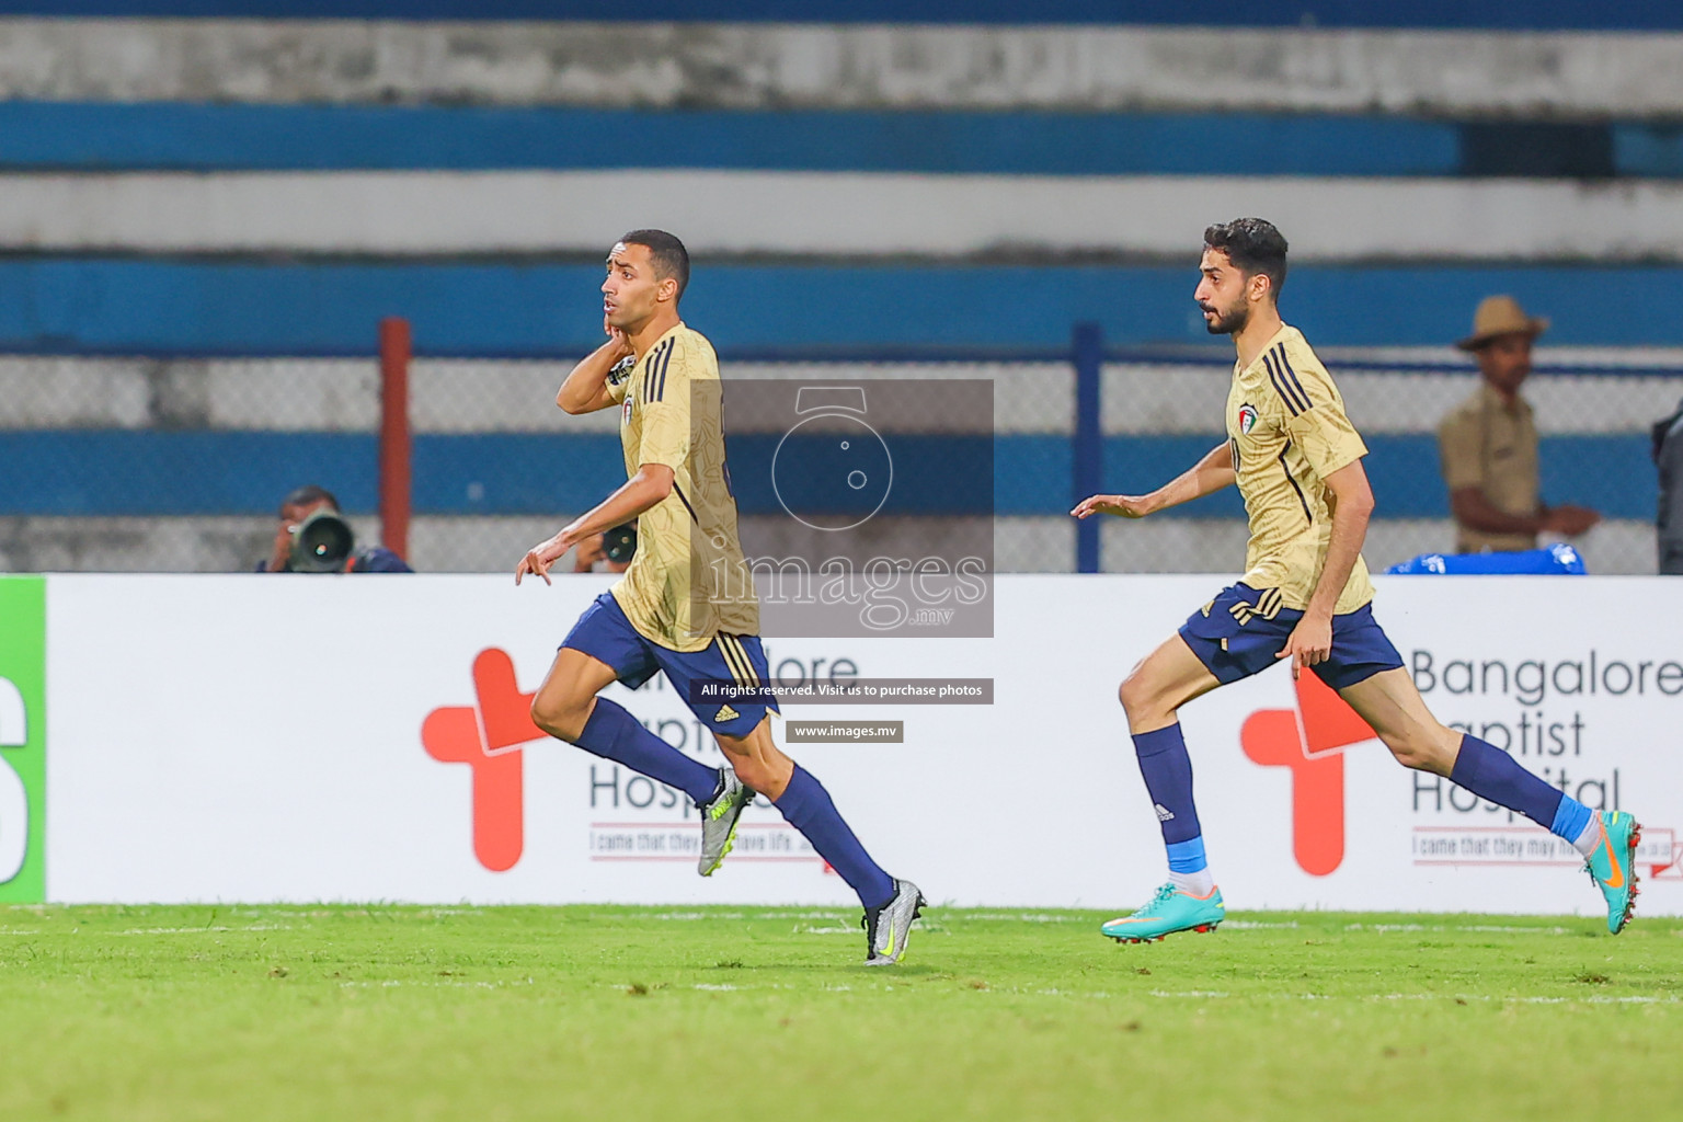
[[1668, 1119], [1683, 922], [5, 907], [0, 1119]]

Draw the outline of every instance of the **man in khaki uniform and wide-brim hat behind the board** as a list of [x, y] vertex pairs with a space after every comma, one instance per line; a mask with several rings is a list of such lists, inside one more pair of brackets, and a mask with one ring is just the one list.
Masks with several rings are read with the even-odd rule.
[[1456, 347], [1478, 360], [1479, 389], [1437, 426], [1456, 550], [1528, 550], [1537, 535], [1584, 533], [1601, 515], [1585, 506], [1545, 506], [1537, 464], [1537, 424], [1520, 385], [1532, 373], [1532, 343], [1548, 320], [1528, 316], [1513, 296], [1486, 296], [1473, 335]]

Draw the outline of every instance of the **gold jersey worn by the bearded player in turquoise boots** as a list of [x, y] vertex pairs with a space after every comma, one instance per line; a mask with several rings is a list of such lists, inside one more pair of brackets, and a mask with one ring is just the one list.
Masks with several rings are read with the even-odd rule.
[[[1367, 456], [1367, 444], [1298, 328], [1281, 326], [1249, 367], [1234, 363], [1227, 442], [1250, 516], [1244, 582], [1279, 589], [1284, 607], [1303, 611], [1333, 530], [1323, 479]], [[1356, 557], [1333, 612], [1353, 612], [1372, 599], [1367, 562]]]

